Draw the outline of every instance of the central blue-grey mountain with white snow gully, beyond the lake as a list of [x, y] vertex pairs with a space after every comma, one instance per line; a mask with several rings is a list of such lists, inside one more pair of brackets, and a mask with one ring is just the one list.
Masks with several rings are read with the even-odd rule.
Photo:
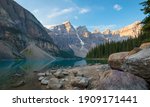
[[51, 26], [47, 32], [61, 50], [70, 51], [78, 57], [85, 57], [91, 48], [107, 41], [104, 37], [91, 34], [86, 26], [75, 29], [69, 21]]

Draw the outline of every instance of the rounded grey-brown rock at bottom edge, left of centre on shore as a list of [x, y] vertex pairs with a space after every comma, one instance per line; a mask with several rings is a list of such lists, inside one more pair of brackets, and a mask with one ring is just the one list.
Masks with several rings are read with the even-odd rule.
[[48, 82], [48, 89], [58, 90], [62, 87], [60, 80], [58, 78], [51, 78]]

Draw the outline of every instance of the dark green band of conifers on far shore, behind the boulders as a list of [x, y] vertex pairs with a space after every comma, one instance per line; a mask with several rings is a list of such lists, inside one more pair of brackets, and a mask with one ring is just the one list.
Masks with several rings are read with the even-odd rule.
[[144, 42], [150, 42], [150, 34], [141, 34], [138, 38], [96, 46], [87, 54], [87, 58], [108, 58], [112, 53], [131, 51]]

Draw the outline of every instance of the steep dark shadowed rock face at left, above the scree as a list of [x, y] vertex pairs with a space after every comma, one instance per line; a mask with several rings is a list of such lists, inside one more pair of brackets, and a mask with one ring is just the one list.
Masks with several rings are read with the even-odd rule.
[[53, 55], [58, 52], [42, 24], [13, 0], [0, 0], [0, 40], [18, 53], [30, 42]]

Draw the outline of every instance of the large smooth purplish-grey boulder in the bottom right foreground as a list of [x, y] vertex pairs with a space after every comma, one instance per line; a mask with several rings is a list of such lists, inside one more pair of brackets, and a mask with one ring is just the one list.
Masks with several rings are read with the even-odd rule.
[[99, 79], [100, 90], [147, 90], [147, 82], [133, 74], [117, 70], [105, 71]]

